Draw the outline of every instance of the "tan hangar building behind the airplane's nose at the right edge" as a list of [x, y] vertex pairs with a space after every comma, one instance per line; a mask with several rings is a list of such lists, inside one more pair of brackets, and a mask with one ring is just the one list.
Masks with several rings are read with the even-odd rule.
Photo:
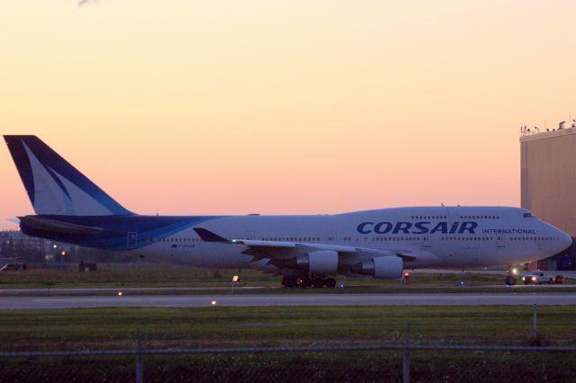
[[[576, 237], [576, 125], [522, 130], [521, 204], [536, 217]], [[576, 246], [539, 261], [540, 270], [576, 270]]]

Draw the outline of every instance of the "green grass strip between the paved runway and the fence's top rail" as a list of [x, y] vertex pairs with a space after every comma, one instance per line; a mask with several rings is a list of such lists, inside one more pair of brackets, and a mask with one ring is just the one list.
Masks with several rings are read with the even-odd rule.
[[[206, 307], [3, 311], [0, 351], [403, 342], [525, 344], [532, 307]], [[576, 307], [539, 307], [554, 345], [576, 345]]]

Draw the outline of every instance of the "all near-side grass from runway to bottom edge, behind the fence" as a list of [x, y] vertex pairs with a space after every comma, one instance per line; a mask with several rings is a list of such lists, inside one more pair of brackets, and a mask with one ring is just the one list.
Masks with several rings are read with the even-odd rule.
[[[206, 307], [8, 311], [0, 350], [402, 344], [526, 345], [531, 307]], [[576, 307], [539, 307], [550, 345], [576, 345]], [[401, 352], [321, 352], [145, 358], [146, 381], [398, 381]], [[413, 352], [414, 381], [570, 381], [574, 355]], [[0, 361], [0, 381], [133, 379], [134, 358]], [[40, 378], [39, 378], [40, 377]], [[73, 378], [73, 379], [72, 379]]]

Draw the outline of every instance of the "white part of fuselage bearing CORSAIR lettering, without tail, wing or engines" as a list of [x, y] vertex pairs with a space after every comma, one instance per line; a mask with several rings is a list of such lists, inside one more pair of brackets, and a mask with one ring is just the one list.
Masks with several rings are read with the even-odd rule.
[[[572, 238], [527, 210], [504, 207], [423, 207], [318, 216], [233, 216], [202, 227], [228, 239], [343, 245], [408, 254], [406, 269], [482, 268], [525, 263], [558, 254]], [[194, 227], [149, 239], [130, 254], [157, 262], [279, 272], [242, 254], [243, 245], [204, 242]], [[368, 255], [369, 256], [369, 255]], [[365, 260], [353, 254], [347, 263]]]

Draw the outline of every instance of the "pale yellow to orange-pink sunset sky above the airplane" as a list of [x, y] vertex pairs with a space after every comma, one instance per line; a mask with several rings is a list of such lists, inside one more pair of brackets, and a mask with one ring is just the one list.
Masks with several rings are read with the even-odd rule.
[[[126, 208], [519, 204], [520, 124], [576, 115], [573, 1], [7, 0], [0, 126]], [[0, 150], [6, 219], [31, 214]]]

